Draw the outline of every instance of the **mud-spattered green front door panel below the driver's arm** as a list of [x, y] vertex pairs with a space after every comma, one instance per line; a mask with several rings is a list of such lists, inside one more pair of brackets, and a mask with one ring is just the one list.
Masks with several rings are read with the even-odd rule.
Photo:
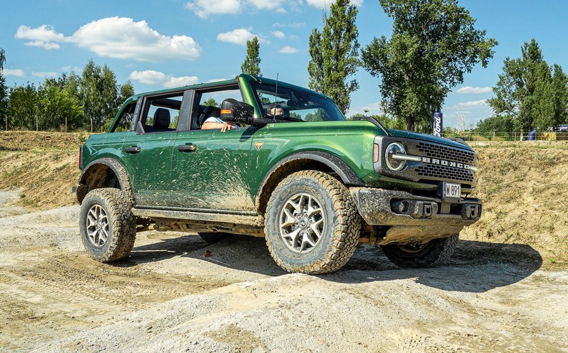
[[248, 175], [255, 128], [179, 132], [171, 202], [183, 209], [254, 211]]

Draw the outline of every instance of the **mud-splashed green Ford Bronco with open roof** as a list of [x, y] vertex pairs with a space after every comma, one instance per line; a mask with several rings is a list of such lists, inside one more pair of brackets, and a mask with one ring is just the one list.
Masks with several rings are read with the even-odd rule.
[[[202, 129], [212, 117], [231, 129]], [[153, 229], [265, 237], [290, 272], [337, 271], [358, 243], [427, 267], [481, 217], [464, 142], [346, 120], [322, 94], [250, 75], [128, 98], [79, 163], [80, 234], [102, 262]]]

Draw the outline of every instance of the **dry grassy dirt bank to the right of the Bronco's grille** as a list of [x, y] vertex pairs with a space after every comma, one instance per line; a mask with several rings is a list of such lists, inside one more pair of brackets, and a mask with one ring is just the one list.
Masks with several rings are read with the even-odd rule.
[[462, 239], [530, 244], [545, 266], [568, 264], [568, 142], [474, 144], [483, 216]]

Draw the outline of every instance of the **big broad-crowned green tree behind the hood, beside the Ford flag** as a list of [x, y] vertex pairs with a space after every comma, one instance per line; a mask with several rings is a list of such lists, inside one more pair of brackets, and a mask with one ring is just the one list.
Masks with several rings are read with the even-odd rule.
[[497, 41], [473, 27], [457, 0], [379, 2], [394, 20], [392, 37], [375, 37], [363, 49], [363, 67], [382, 77], [385, 113], [404, 118], [408, 130], [428, 131], [447, 93], [476, 63], [487, 66]]

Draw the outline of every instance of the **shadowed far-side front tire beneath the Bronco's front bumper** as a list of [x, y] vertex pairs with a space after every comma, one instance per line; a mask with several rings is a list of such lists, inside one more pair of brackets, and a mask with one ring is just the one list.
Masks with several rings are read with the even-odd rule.
[[454, 254], [459, 234], [430, 240], [422, 245], [382, 245], [382, 252], [402, 268], [435, 267], [444, 264]]

